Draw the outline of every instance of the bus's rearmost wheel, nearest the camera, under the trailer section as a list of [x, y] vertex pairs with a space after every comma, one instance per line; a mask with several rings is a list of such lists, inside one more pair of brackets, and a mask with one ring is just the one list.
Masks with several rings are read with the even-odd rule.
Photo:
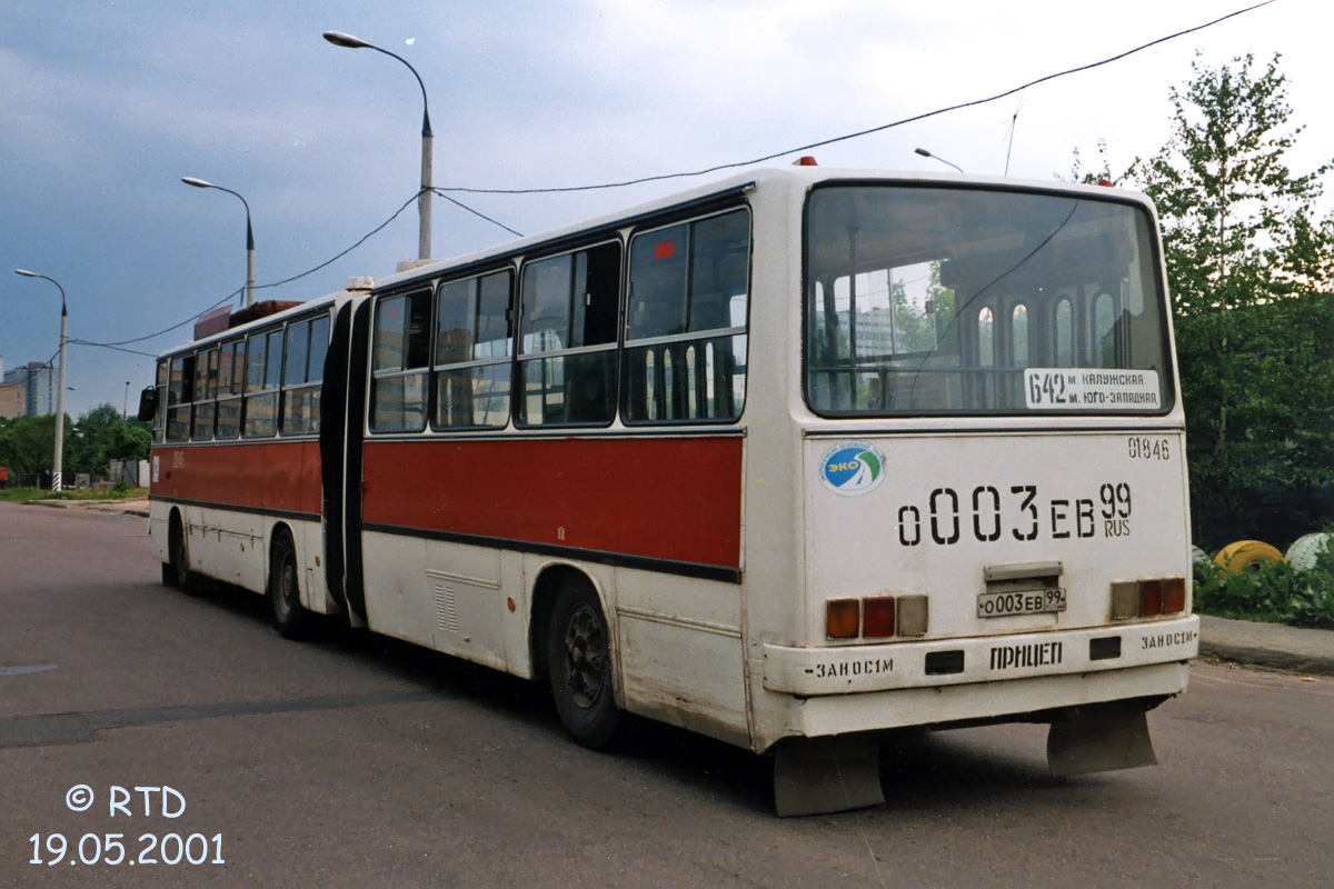
[[611, 744], [620, 724], [611, 678], [611, 634], [587, 582], [567, 580], [556, 596], [547, 668], [566, 730], [594, 750]]

